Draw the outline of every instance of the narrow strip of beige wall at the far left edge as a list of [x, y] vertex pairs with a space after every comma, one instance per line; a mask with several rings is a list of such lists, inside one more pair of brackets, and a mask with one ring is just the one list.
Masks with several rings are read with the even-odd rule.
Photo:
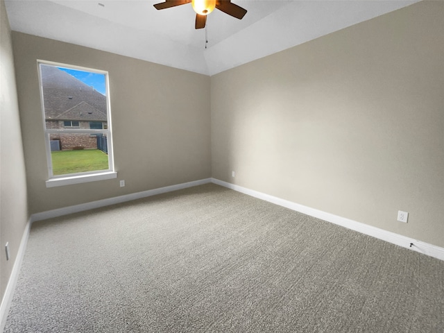
[[[0, 1], [0, 291], [1, 300], [28, 221], [26, 173], [5, 3]], [[5, 245], [10, 246], [6, 261]]]

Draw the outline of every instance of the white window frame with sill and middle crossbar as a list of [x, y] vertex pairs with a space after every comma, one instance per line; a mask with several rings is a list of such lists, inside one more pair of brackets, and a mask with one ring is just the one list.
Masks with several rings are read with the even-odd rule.
[[[66, 69], [74, 69], [74, 70], [87, 71], [87, 72], [96, 73], [96, 74], [103, 74], [105, 76], [107, 126], [103, 126], [102, 129], [87, 129], [87, 128], [77, 128], [77, 127], [65, 127], [65, 126], [63, 126], [63, 128], [58, 128], [58, 129], [46, 128], [46, 114], [45, 114], [45, 110], [44, 110], [44, 94], [43, 94], [42, 73], [41, 73], [40, 65], [49, 65], [49, 66], [53, 66], [53, 67], [61, 67], [61, 68], [66, 68]], [[37, 72], [38, 72], [38, 78], [39, 78], [40, 104], [41, 104], [41, 110], [42, 110], [44, 143], [45, 143], [45, 150], [46, 150], [46, 164], [47, 164], [47, 170], [48, 170], [48, 180], [46, 180], [46, 187], [58, 187], [58, 186], [63, 186], [63, 185], [73, 185], [73, 184], [78, 184], [78, 183], [83, 183], [83, 182], [93, 182], [96, 180], [106, 180], [106, 179], [117, 178], [117, 172], [114, 170], [114, 155], [113, 155], [113, 144], [112, 144], [112, 119], [111, 119], [111, 105], [110, 105], [110, 85], [109, 85], [108, 71], [103, 71], [101, 69], [92, 69], [92, 68], [88, 68], [88, 67], [81, 67], [81, 66], [77, 66], [77, 65], [68, 65], [68, 64], [63, 64], [60, 62], [37, 60]], [[79, 122], [79, 126], [80, 126], [80, 122]], [[54, 175], [53, 174], [52, 158], [51, 158], [51, 134], [63, 134], [63, 133], [106, 135], [107, 142], [108, 142], [108, 169], [79, 172], [79, 173], [66, 173], [63, 175]]]

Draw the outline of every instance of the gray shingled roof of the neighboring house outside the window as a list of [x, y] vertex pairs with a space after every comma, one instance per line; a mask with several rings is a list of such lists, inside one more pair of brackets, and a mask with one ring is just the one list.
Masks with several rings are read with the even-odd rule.
[[42, 65], [45, 119], [107, 121], [106, 96], [57, 67]]

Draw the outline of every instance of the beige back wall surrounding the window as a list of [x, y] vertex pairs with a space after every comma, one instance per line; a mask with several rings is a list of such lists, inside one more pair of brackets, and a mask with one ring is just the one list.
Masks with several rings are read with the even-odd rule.
[[[31, 214], [211, 176], [208, 76], [23, 33], [12, 39]], [[118, 179], [46, 188], [37, 59], [108, 71]]]

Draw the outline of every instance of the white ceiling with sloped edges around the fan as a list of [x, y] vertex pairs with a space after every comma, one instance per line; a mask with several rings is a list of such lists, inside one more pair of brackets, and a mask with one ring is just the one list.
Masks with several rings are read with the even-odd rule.
[[207, 49], [191, 3], [156, 10], [163, 0], [5, 2], [14, 31], [214, 75], [418, 1], [232, 0], [247, 14], [214, 10]]

